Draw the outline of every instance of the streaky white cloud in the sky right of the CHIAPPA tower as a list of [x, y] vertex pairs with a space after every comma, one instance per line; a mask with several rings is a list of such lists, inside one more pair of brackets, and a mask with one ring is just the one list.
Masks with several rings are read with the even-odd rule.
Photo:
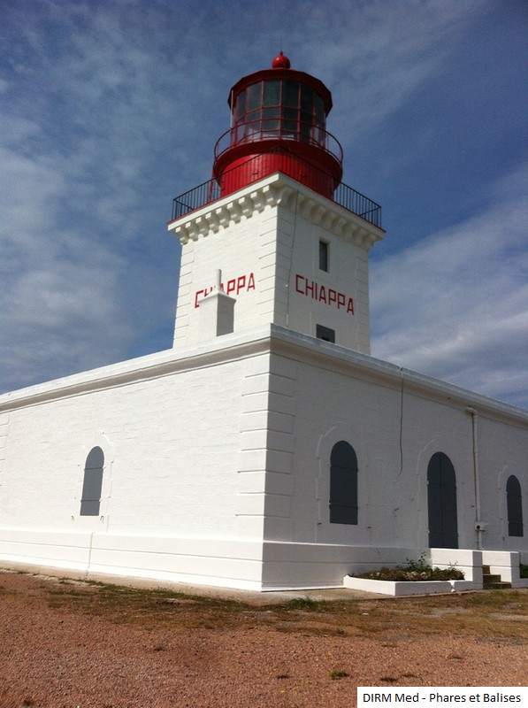
[[528, 250], [519, 177], [507, 201], [372, 264], [374, 356], [528, 405]]

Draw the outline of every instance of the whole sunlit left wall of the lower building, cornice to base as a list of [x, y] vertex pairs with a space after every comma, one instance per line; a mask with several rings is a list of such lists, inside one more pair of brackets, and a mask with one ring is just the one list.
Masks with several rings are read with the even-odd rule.
[[[243, 349], [162, 352], [0, 396], [0, 562], [259, 588], [264, 496], [241, 460], [268, 357]], [[96, 445], [100, 514], [80, 516]]]

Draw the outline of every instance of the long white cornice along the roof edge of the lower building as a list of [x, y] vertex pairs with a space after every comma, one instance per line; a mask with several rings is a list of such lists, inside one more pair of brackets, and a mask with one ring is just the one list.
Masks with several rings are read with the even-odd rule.
[[278, 354], [296, 362], [322, 366], [360, 381], [400, 391], [402, 395], [418, 396], [459, 411], [468, 412], [468, 406], [471, 406], [483, 418], [503, 420], [510, 425], [528, 429], [528, 411], [522, 408], [273, 324], [240, 335], [218, 337], [205, 344], [160, 351], [12, 391], [0, 396], [0, 412], [83, 396], [97, 390], [134, 385], [262, 354]]

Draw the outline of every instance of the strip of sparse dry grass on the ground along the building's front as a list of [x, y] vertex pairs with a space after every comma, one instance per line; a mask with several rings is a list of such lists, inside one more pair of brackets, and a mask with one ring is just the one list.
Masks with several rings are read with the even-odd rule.
[[[42, 581], [39, 589], [44, 589], [48, 604], [57, 612], [83, 612], [149, 630], [170, 627], [172, 632], [215, 632], [269, 627], [275, 632], [314, 637], [379, 637], [385, 645], [417, 635], [445, 633], [528, 641], [528, 622], [518, 621], [519, 615], [528, 616], [528, 593], [524, 589], [331, 602], [300, 597], [264, 605], [185, 595], [173, 589], [134, 589], [103, 583]], [[517, 621], [509, 621], [509, 615], [515, 615]]]

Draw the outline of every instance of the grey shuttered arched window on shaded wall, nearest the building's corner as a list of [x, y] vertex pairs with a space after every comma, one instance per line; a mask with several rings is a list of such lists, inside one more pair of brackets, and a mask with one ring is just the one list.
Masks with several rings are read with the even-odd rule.
[[344, 440], [330, 454], [330, 523], [357, 524], [357, 458]]

